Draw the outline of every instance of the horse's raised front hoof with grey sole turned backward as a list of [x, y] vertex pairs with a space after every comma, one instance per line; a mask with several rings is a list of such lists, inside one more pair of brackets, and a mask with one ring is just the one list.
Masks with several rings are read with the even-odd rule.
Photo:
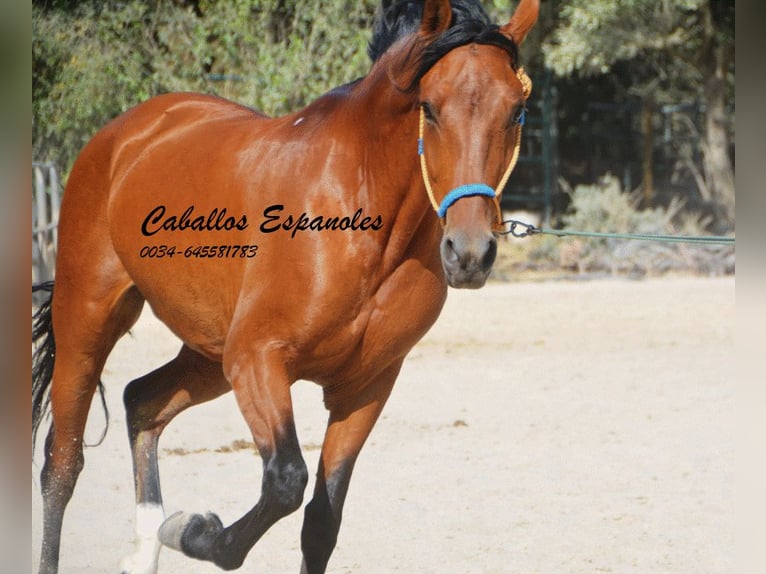
[[162, 523], [157, 537], [168, 548], [183, 552], [192, 558], [210, 560], [212, 543], [221, 530], [223, 523], [212, 512], [202, 516], [179, 511]]

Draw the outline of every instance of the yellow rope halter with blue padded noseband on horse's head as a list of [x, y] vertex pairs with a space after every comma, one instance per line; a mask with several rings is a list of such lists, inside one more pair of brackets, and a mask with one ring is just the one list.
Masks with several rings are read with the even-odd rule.
[[[520, 67], [518, 69], [518, 72], [516, 73], [517, 77], [519, 78], [519, 81], [521, 82], [522, 86], [522, 92], [524, 95], [524, 100], [529, 97], [529, 94], [532, 92], [532, 80], [529, 79], [529, 76], [527, 76], [526, 72], [524, 71], [523, 67]], [[486, 197], [490, 197], [494, 200], [495, 208], [497, 209], [497, 219], [495, 221], [494, 227], [496, 229], [502, 228], [502, 211], [500, 210], [500, 195], [503, 193], [503, 188], [505, 187], [505, 184], [508, 183], [508, 178], [511, 176], [511, 172], [516, 167], [516, 162], [519, 159], [519, 151], [521, 150], [521, 128], [524, 125], [524, 120], [526, 118], [526, 108], [522, 109], [521, 114], [517, 120], [515, 120], [516, 127], [515, 127], [515, 142], [513, 145], [513, 153], [511, 154], [511, 160], [508, 163], [508, 167], [505, 170], [505, 173], [503, 174], [503, 177], [500, 178], [500, 183], [497, 184], [497, 187], [495, 189], [492, 189], [490, 186], [488, 186], [485, 183], [469, 183], [466, 185], [461, 185], [459, 187], [456, 187], [452, 191], [450, 191], [447, 195], [444, 196], [444, 199], [442, 199], [441, 203], [436, 201], [436, 197], [434, 196], [434, 190], [431, 187], [431, 178], [428, 177], [428, 167], [426, 166], [426, 156], [425, 156], [425, 149], [423, 144], [423, 132], [425, 129], [425, 123], [426, 123], [426, 115], [425, 111], [423, 110], [423, 107], [420, 107], [420, 121], [418, 125], [418, 155], [420, 156], [420, 171], [423, 174], [423, 183], [426, 186], [426, 193], [428, 194], [428, 199], [431, 200], [431, 205], [434, 208], [434, 211], [436, 211], [436, 214], [439, 216], [439, 219], [442, 222], [442, 225], [444, 225], [444, 218], [447, 217], [447, 210], [459, 199], [462, 199], [463, 197], [470, 197], [474, 195], [484, 195]]]

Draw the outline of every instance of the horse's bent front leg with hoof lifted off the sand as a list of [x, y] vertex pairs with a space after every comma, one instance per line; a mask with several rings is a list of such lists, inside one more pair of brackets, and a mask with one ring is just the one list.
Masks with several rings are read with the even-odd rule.
[[165, 546], [233, 570], [275, 522], [300, 508], [308, 471], [295, 432], [287, 363], [284, 353], [273, 349], [240, 353], [230, 363], [224, 357], [224, 371], [263, 461], [261, 497], [228, 527], [213, 513], [174, 514], [160, 528]]

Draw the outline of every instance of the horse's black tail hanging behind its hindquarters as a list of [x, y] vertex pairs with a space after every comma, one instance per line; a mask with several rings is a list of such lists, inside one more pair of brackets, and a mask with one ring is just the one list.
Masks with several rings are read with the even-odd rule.
[[[56, 339], [53, 336], [53, 321], [51, 320], [53, 281], [32, 285], [32, 293], [38, 291], [46, 292], [48, 296], [32, 315], [32, 452], [34, 452], [37, 440], [37, 430], [40, 428], [40, 423], [50, 404], [53, 364], [56, 361]], [[101, 406], [104, 408], [106, 426], [96, 445], [101, 444], [104, 440], [106, 430], [109, 427], [109, 411], [106, 408], [104, 385], [100, 381], [98, 390], [101, 395]]]

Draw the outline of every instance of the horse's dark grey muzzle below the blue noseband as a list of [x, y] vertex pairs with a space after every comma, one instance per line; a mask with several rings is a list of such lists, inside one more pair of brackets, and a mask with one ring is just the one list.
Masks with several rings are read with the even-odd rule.
[[441, 242], [444, 274], [451, 287], [478, 289], [492, 271], [497, 256], [497, 240], [482, 235], [469, 238], [462, 233], [445, 235]]

